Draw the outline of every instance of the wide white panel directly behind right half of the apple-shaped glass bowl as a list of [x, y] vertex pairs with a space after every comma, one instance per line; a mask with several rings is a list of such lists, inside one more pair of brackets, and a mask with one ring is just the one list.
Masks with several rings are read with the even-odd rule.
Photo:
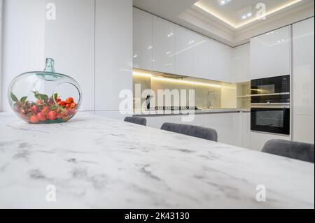
[[55, 4], [56, 20], [45, 20], [45, 57], [55, 59], [58, 73], [78, 81], [83, 92], [80, 109], [94, 110], [94, 1], [46, 3]]

